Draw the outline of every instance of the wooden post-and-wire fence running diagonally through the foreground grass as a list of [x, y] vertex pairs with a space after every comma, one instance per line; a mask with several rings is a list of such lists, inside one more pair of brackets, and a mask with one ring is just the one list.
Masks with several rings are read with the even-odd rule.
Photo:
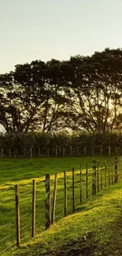
[[0, 190], [0, 253], [34, 238], [54, 221], [81, 210], [98, 191], [116, 184], [122, 177], [122, 158], [110, 158], [46, 174], [32, 183]]

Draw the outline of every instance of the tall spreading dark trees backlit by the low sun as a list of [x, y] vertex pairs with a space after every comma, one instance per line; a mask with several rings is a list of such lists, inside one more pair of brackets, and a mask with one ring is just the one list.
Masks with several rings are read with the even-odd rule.
[[32, 61], [0, 76], [0, 124], [7, 133], [104, 134], [120, 130], [121, 105], [120, 49], [68, 61]]

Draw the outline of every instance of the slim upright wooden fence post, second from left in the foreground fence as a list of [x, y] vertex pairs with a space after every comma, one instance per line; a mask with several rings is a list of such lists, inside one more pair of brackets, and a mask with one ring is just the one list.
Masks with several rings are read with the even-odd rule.
[[32, 180], [32, 237], [35, 237], [35, 180]]

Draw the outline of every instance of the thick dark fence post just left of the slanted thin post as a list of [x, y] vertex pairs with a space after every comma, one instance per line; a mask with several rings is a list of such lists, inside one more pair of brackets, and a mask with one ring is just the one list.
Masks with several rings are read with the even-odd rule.
[[46, 174], [46, 229], [50, 228], [50, 174]]

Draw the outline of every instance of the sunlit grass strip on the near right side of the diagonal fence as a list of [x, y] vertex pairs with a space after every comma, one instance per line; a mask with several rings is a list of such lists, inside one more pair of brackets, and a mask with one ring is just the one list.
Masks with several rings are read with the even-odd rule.
[[122, 181], [101, 191], [79, 207], [81, 212], [65, 217], [50, 230], [24, 243], [11, 255], [20, 256], [121, 256]]

